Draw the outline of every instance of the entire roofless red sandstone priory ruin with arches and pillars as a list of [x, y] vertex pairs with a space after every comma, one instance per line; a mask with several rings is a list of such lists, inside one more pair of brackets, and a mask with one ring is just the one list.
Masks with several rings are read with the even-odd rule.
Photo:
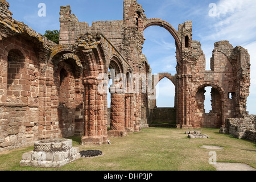
[[[79, 22], [71, 6], [61, 6], [56, 44], [13, 19], [9, 6], [1, 0], [0, 151], [73, 135], [81, 136], [81, 144], [101, 145], [109, 137], [148, 127], [156, 109], [154, 94], [142, 88], [125, 93], [116, 89], [108, 131], [107, 93], [97, 88], [98, 77], [109, 75], [108, 69], [115, 75], [152, 74], [142, 55], [143, 31], [150, 26], [165, 28], [175, 39], [177, 74], [159, 73], [147, 88], [154, 89], [165, 77], [172, 81], [178, 128], [225, 127], [226, 118], [243, 119], [247, 113], [249, 53], [228, 41], [214, 43], [211, 70], [205, 71], [205, 55], [201, 43], [192, 39], [191, 21], [175, 30], [162, 19], [148, 19], [136, 0], [124, 0], [122, 20], [92, 22], [90, 27]], [[210, 113], [204, 109], [207, 86], [212, 87]]]

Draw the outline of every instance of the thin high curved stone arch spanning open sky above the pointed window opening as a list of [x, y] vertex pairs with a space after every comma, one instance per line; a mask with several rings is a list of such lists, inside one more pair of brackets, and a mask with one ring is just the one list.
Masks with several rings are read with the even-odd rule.
[[[160, 26], [160, 27], [165, 28], [168, 32], [170, 32], [172, 37], [175, 39], [177, 49], [179, 49], [179, 55], [180, 55], [179, 57], [181, 57], [181, 55], [182, 55], [181, 38], [178, 35], [179, 33], [175, 30], [175, 28], [172, 27], [170, 23], [168, 23], [162, 19], [158, 19], [158, 18], [147, 19], [144, 22], [144, 30], [150, 26]], [[177, 62], [179, 64], [181, 63], [180, 60], [177, 60]]]

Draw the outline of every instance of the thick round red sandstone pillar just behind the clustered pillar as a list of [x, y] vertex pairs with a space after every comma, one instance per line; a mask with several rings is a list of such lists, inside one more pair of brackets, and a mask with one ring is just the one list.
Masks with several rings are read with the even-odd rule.
[[110, 130], [109, 137], [125, 137], [127, 130], [125, 129], [125, 94], [111, 94], [111, 113], [110, 113]]

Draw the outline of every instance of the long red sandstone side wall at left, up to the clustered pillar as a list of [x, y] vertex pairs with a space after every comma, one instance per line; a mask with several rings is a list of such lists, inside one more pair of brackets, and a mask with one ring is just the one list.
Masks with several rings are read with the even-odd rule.
[[[65, 88], [60, 88], [49, 59], [55, 51], [51, 46], [56, 44], [12, 19], [9, 3], [1, 1], [0, 5], [0, 151], [40, 139], [81, 135], [84, 111], [83, 93], [78, 94], [80, 81], [72, 76], [64, 78]], [[73, 65], [67, 71], [74, 72]], [[69, 93], [59, 93], [66, 89]], [[60, 101], [73, 110], [61, 114]]]

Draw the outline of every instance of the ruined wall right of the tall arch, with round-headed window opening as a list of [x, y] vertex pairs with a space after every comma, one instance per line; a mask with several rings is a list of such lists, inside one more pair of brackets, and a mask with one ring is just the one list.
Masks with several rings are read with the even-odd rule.
[[[192, 73], [191, 92], [195, 93], [195, 98], [192, 98], [192, 101], [195, 103], [195, 116], [197, 118], [192, 126], [196, 127], [224, 126], [225, 118], [236, 118], [245, 113], [246, 104], [241, 101], [243, 100], [241, 87], [246, 88], [243, 89], [242, 94], [247, 97], [249, 93], [247, 88], [250, 86], [250, 73], [247, 66], [246, 69], [241, 69], [244, 65], [240, 64], [239, 60], [243, 59], [246, 62], [245, 65], [248, 65], [250, 62], [249, 55], [241, 47], [233, 48], [228, 41], [217, 42], [214, 46], [213, 56], [210, 61], [211, 71], [205, 71], [205, 58], [201, 56], [194, 67], [195, 72]], [[244, 56], [241, 56], [240, 51], [244, 52]], [[236, 61], [234, 61], [235, 59]], [[246, 75], [245, 82], [238, 81], [241, 79], [240, 72], [242, 70], [243, 74]], [[244, 83], [247, 83], [245, 87], [243, 86]], [[212, 111], [209, 114], [205, 114], [203, 105], [204, 88], [207, 86], [212, 87]], [[193, 91], [194, 88], [197, 89]], [[200, 99], [198, 98], [199, 94], [201, 95]], [[241, 107], [243, 111], [241, 111]], [[208, 124], [204, 125], [204, 121], [208, 121]]]

